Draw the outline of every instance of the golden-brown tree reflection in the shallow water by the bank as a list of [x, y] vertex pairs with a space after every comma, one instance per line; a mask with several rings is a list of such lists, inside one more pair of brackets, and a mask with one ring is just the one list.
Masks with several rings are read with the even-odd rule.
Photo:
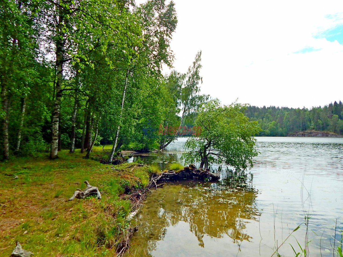
[[[258, 221], [260, 215], [255, 207], [257, 191], [251, 186], [251, 179], [245, 173], [228, 171], [221, 183], [187, 181], [158, 188], [147, 197], [136, 218], [139, 230], [132, 238], [127, 255], [151, 256], [162, 247], [166, 234], [172, 233], [168, 228], [176, 227], [179, 222], [187, 223], [201, 247], [206, 247], [204, 235], [211, 238], [227, 235], [239, 250], [241, 242], [251, 240], [244, 232], [246, 224]], [[188, 234], [180, 238], [185, 245], [189, 243]], [[177, 250], [170, 254], [177, 255]]]

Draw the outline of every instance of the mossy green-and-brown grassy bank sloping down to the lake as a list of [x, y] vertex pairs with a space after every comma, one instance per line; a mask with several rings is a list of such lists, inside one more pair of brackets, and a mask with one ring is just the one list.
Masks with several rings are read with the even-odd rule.
[[[105, 149], [106, 150], [106, 149]], [[103, 155], [95, 147], [93, 156]], [[147, 167], [115, 166], [86, 160], [76, 150], [46, 153], [0, 163], [0, 256], [10, 256], [15, 242], [35, 256], [113, 256], [129, 228], [126, 186], [144, 187]], [[14, 179], [14, 176], [18, 176]], [[68, 201], [87, 180], [102, 192]]]

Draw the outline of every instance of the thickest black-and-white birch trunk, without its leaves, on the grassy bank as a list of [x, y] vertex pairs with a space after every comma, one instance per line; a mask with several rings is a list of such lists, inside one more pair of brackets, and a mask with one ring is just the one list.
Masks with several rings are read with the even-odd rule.
[[62, 81], [63, 81], [63, 53], [64, 53], [64, 33], [63, 33], [63, 10], [59, 10], [58, 17], [58, 39], [56, 41], [56, 69], [57, 69], [57, 81], [56, 81], [56, 97], [54, 104], [54, 112], [52, 114], [52, 140], [50, 149], [50, 159], [58, 158], [58, 124], [60, 116], [60, 106], [62, 97]]

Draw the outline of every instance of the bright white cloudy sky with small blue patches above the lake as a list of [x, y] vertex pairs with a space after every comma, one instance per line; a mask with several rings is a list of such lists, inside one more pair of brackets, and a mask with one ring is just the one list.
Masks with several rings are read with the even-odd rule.
[[342, 0], [174, 2], [174, 69], [201, 50], [202, 94], [258, 107], [343, 101]]

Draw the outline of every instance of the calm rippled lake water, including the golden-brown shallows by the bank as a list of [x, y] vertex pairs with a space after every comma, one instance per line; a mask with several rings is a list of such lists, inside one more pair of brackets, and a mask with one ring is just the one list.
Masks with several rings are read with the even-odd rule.
[[[185, 142], [140, 158], [164, 169], [180, 162]], [[127, 256], [271, 256], [300, 224], [281, 256], [294, 256], [291, 245], [301, 252], [297, 241], [310, 241], [310, 256], [333, 256], [343, 230], [343, 138], [258, 137], [256, 147], [241, 184], [223, 167], [219, 183], [169, 183], [148, 195]]]

